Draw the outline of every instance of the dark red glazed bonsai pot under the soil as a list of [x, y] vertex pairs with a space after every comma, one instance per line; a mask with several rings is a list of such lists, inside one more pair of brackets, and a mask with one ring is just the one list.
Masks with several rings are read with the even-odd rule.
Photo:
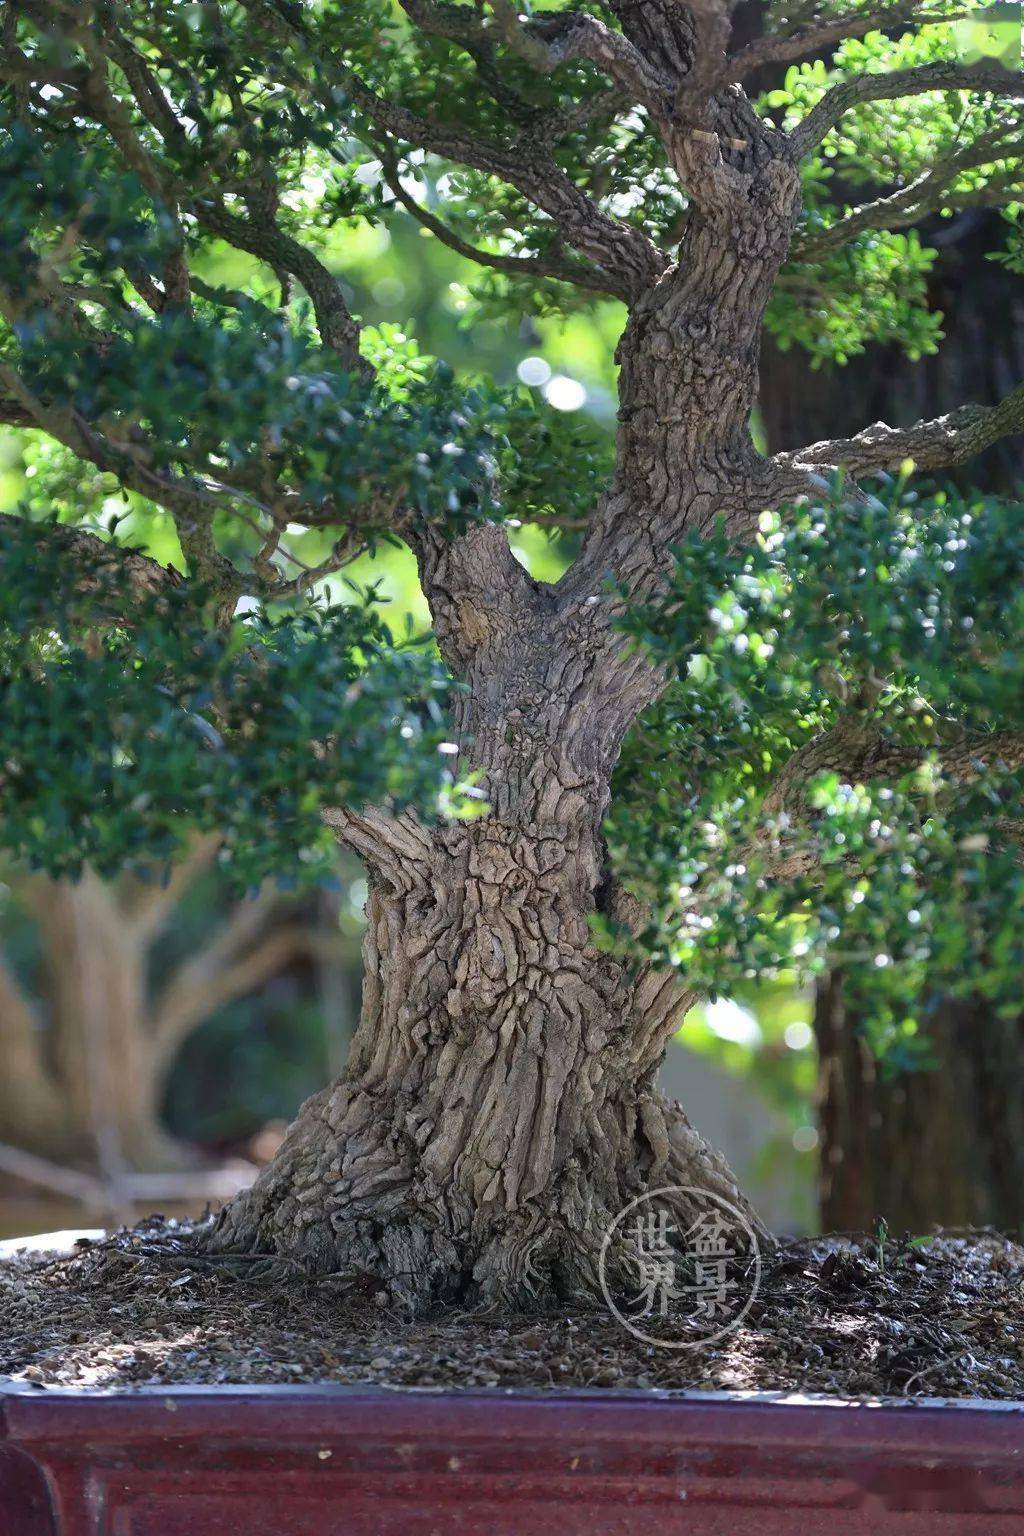
[[0, 1385], [3, 1536], [1019, 1530], [1018, 1407]]

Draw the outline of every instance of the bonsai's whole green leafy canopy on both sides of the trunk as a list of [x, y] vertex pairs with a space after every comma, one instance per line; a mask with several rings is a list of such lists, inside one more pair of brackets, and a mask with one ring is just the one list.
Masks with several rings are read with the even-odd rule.
[[[983, 958], [1010, 995], [1019, 513], [900, 467], [1019, 430], [1024, 386], [763, 458], [751, 505], [669, 528], [668, 576], [637, 582], [603, 536], [606, 439], [422, 355], [399, 316], [361, 326], [339, 267], [345, 229], [411, 223], [479, 266], [470, 316], [633, 310], [774, 157], [803, 210], [766, 326], [811, 364], [933, 352], [926, 217], [999, 207], [1024, 264], [1024, 83], [987, 57], [998, 28], [975, 0], [846, 0], [769, 6], [740, 46], [732, 11], [9, 0], [0, 421], [37, 473], [0, 528], [8, 848], [74, 874], [216, 826], [255, 882], [321, 868], [324, 808], [479, 809], [441, 707], [457, 598], [434, 594], [433, 637], [396, 637], [338, 578], [388, 542], [434, 568], [470, 528], [531, 522], [567, 562], [582, 547], [671, 679], [608, 826], [651, 915], [606, 915], [606, 943], [628, 928], [712, 991], [855, 955], [890, 1037]], [[114, 496], [154, 508], [157, 553], [118, 536]]]

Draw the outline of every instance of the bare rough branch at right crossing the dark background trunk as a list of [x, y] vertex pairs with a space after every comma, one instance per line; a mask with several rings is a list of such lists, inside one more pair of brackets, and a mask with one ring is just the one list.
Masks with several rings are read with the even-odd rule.
[[998, 406], [961, 406], [946, 416], [917, 421], [910, 427], [887, 427], [878, 421], [855, 438], [812, 442], [795, 453], [778, 453], [777, 470], [831, 470], [844, 465], [858, 479], [878, 470], [897, 470], [912, 459], [920, 470], [963, 464], [984, 449], [1024, 432], [1024, 384]]

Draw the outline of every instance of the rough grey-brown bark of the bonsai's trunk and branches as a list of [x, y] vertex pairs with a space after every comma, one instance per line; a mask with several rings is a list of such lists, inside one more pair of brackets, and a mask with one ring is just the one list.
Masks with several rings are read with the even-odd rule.
[[[382, 525], [416, 548], [439, 644], [462, 685], [454, 700], [462, 760], [481, 774], [490, 811], [477, 825], [430, 834], [382, 814], [335, 817], [367, 862], [373, 889], [353, 1061], [306, 1107], [279, 1158], [223, 1213], [210, 1240], [299, 1253], [318, 1267], [365, 1267], [416, 1299], [573, 1293], [593, 1289], [603, 1215], [623, 1193], [677, 1174], [728, 1180], [651, 1089], [685, 994], [674, 998], [663, 978], [633, 974], [588, 942], [590, 915], [611, 900], [600, 845], [609, 774], [623, 733], [662, 687], [657, 671], [622, 647], [605, 578], [611, 571], [626, 596], [651, 594], [686, 530], [725, 516], [740, 539], [763, 508], [814, 493], [823, 472], [841, 462], [854, 478], [907, 455], [923, 467], [946, 465], [1024, 422], [1022, 389], [989, 410], [963, 407], [904, 430], [875, 425], [771, 461], [748, 430], [761, 316], [798, 215], [801, 155], [863, 101], [933, 89], [1013, 100], [1024, 88], [989, 63], [870, 72], [827, 91], [783, 132], [737, 81], [766, 63], [834, 48], [835, 29], [823, 34], [812, 23], [765, 60], [729, 52], [731, 0], [613, 0], [620, 32], [579, 12], [522, 17], [508, 0], [491, 5], [494, 26], [467, 6], [404, 6], [416, 26], [471, 55], [494, 101], [476, 126], [430, 112], [421, 92], [421, 111], [379, 94], [302, 8], [246, 0], [263, 38], [279, 40], [298, 65], [284, 78], [304, 109], [316, 115], [325, 91], [332, 103], [344, 97], [355, 131], [385, 164], [416, 146], [514, 187], [531, 209], [533, 233], [525, 232], [545, 264], [557, 257], [565, 276], [563, 255], [573, 252], [588, 286], [626, 303], [619, 456], [582, 556], [557, 588], [530, 582], [499, 531], [445, 544], [387, 475], [361, 487], [358, 502], [370, 493]], [[886, 15], [901, 20], [904, 8]], [[846, 31], [860, 35], [863, 25], [854, 17]], [[201, 111], [195, 92], [186, 92], [187, 112], [173, 92], [154, 92], [143, 55], [106, 23], [75, 29], [74, 41], [78, 61], [61, 69], [60, 84], [80, 118], [111, 138], [161, 206], [296, 276], [324, 344], [355, 361], [358, 326], [338, 280], [278, 226], [276, 209], [252, 189], [239, 198], [216, 167], [209, 186], [192, 184], [180, 147]], [[51, 68], [48, 51], [38, 54]], [[608, 111], [609, 92], [545, 109], [534, 109], [528, 88], [520, 94], [525, 71], [547, 75], [579, 60], [611, 83], [613, 111], [642, 108], [643, 131], [660, 135], [688, 200], [677, 261], [609, 212], [593, 166], [577, 161], [579, 175], [567, 169], [579, 147], [567, 140], [591, 112]], [[29, 83], [41, 83], [41, 66], [35, 52], [17, 49], [5, 65]], [[898, 212], [904, 220], [901, 197]], [[181, 261], [183, 252], [184, 241]], [[60, 304], [37, 266], [34, 304]], [[161, 309], [169, 287], [154, 298]], [[0, 292], [11, 324], [21, 323], [21, 309], [18, 293]], [[75, 323], [100, 344], [81, 306]], [[218, 554], [212, 518], [224, 498], [256, 495], [273, 522], [256, 570], [276, 550], [281, 511], [324, 525], [322, 507], [270, 456], [238, 465], [238, 487], [192, 452], [170, 456], [187, 475], [155, 473], [149, 464], [160, 455], [135, 433], [126, 456], [101, 422], [37, 398], [17, 370], [0, 367], [0, 415], [28, 416], [172, 511], [189, 567], [218, 590], [221, 611], [243, 591], [281, 591], [275, 582], [253, 585]], [[338, 522], [345, 527], [341, 511]], [[341, 539], [327, 568], [353, 547]]]

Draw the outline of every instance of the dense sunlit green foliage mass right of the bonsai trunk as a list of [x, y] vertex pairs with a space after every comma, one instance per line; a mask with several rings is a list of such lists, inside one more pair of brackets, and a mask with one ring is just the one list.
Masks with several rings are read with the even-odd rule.
[[915, 1003], [1019, 1008], [1024, 522], [840, 492], [742, 551], [689, 541], [626, 614], [677, 680], [626, 746], [611, 834], [656, 952], [728, 992], [841, 962], [897, 1061]]

